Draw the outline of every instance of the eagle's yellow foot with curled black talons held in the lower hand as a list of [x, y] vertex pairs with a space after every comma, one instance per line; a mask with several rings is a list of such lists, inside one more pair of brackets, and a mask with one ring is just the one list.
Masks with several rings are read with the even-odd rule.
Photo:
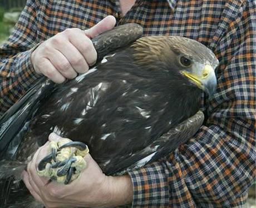
[[49, 150], [51, 153], [38, 164], [37, 173], [40, 176], [69, 184], [86, 168], [86, 161], [83, 157], [89, 152], [89, 149], [80, 141], [70, 139], [51, 141]]

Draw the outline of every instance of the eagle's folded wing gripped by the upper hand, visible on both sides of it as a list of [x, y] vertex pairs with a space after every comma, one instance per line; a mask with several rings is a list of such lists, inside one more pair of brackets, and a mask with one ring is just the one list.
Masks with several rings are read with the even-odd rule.
[[[92, 39], [97, 51], [97, 63], [112, 51], [131, 44], [140, 38], [143, 29], [130, 23], [107, 31]], [[0, 159], [14, 159], [18, 146], [28, 130], [38, 106], [52, 94], [56, 84], [42, 77], [0, 119]]]

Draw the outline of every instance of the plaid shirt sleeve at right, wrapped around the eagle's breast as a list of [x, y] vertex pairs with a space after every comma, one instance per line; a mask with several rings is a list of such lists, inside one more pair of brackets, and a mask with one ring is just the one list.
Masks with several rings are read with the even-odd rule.
[[130, 171], [132, 207], [234, 207], [247, 198], [256, 174], [256, 8], [244, 2], [215, 50], [218, 89], [205, 125], [167, 158]]

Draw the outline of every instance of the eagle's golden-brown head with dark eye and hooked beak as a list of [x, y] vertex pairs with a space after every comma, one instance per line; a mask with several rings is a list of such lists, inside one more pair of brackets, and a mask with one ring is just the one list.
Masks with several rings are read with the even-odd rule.
[[[181, 75], [211, 97], [216, 89], [214, 69], [219, 64], [214, 53], [196, 40], [180, 36], [143, 37], [132, 45], [137, 64], [152, 70]], [[150, 53], [149, 53], [150, 52]]]

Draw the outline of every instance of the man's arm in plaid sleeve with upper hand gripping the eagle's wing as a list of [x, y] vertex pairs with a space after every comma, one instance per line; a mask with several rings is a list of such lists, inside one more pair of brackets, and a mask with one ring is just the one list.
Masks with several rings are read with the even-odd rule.
[[27, 2], [13, 33], [0, 48], [0, 116], [41, 75], [62, 83], [86, 72], [97, 58], [90, 38], [115, 26], [115, 18], [108, 16], [85, 31], [68, 28], [51, 33], [51, 28], [42, 26], [40, 5], [37, 0]]

